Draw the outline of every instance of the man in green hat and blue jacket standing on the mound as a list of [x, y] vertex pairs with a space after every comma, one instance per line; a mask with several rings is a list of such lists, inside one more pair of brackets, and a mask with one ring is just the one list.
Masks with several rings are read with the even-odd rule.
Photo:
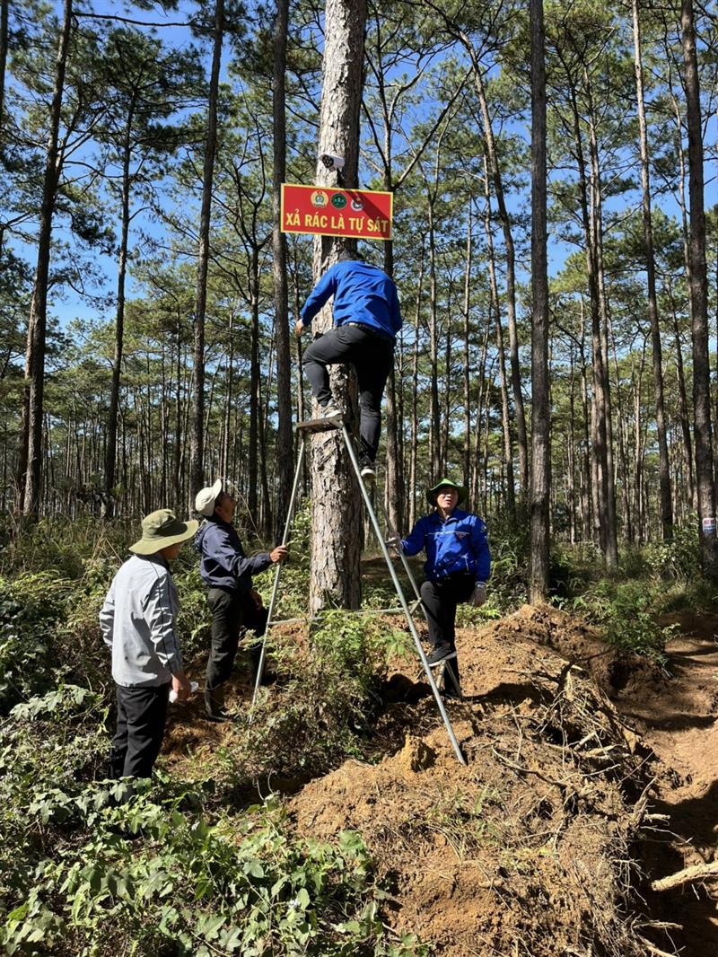
[[[421, 602], [429, 622], [430, 665], [451, 659], [459, 685], [457, 661], [457, 605], [469, 602], [479, 607], [486, 600], [486, 582], [491, 570], [491, 553], [482, 520], [457, 506], [466, 498], [466, 488], [451, 479], [441, 479], [427, 497], [434, 506], [430, 515], [419, 519], [407, 538], [398, 545], [405, 555], [426, 551], [426, 581]], [[456, 694], [451, 684], [446, 694]]]

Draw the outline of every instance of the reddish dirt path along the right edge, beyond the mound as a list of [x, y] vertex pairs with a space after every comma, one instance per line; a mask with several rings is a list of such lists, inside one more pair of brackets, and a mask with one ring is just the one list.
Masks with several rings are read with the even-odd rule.
[[[684, 613], [662, 622], [673, 623], [680, 633], [666, 649], [672, 678], [639, 690], [634, 684], [615, 702], [665, 768], [652, 810], [667, 820], [657, 821], [655, 840], [641, 846], [651, 878], [712, 861], [718, 852], [718, 615]], [[714, 880], [653, 895], [648, 904], [654, 919], [682, 924], [670, 931], [682, 957], [708, 957], [718, 954], [717, 902]]]

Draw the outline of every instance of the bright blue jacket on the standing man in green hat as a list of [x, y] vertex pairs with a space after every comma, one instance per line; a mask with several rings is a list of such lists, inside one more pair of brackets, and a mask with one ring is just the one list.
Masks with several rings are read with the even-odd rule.
[[402, 539], [407, 555], [426, 549], [426, 577], [433, 582], [444, 575], [464, 572], [485, 582], [491, 571], [491, 553], [486, 542], [486, 526], [476, 515], [455, 508], [444, 522], [437, 511], [419, 519], [411, 534]]

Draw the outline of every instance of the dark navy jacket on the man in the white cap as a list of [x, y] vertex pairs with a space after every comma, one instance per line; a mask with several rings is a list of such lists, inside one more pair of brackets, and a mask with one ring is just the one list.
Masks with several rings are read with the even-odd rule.
[[202, 556], [199, 563], [202, 581], [211, 589], [246, 593], [252, 589], [252, 575], [272, 564], [266, 551], [247, 558], [235, 526], [214, 516], [199, 526], [194, 547]]

